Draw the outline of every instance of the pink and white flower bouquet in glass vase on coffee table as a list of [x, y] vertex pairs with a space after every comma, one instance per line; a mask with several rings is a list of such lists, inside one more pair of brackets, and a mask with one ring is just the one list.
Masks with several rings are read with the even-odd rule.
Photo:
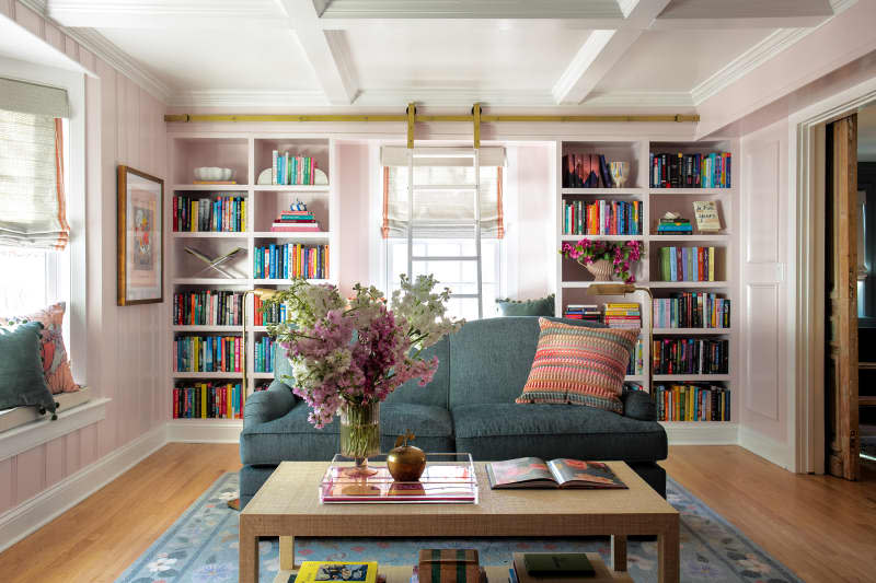
[[438, 359], [423, 349], [457, 331], [464, 320], [446, 315], [450, 290], [435, 293], [433, 276], [405, 276], [388, 302], [377, 288], [354, 287], [342, 298], [328, 283], [292, 280], [266, 300], [263, 310], [285, 303], [287, 319], [268, 326], [292, 365], [292, 392], [312, 411], [316, 428], [341, 417], [341, 454], [368, 471], [368, 457], [380, 453], [380, 403], [403, 383], [419, 378], [425, 386]]

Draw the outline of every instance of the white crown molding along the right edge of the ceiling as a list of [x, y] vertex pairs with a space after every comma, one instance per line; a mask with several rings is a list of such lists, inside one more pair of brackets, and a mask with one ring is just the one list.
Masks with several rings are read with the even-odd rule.
[[713, 97], [781, 51], [804, 39], [806, 36], [833, 20], [837, 14], [844, 12], [856, 2], [857, 0], [831, 0], [830, 7], [833, 9], [833, 16], [826, 19], [818, 26], [812, 26], [810, 28], [779, 28], [773, 32], [766, 38], [736, 57], [722, 69], [713, 73], [708, 79], [693, 88], [691, 90], [693, 104], [700, 105], [707, 98]]

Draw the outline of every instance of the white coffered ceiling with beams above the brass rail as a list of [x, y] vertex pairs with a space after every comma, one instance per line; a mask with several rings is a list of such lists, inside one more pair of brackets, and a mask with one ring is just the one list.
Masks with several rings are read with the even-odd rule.
[[28, 0], [170, 105], [693, 108], [855, 0]]

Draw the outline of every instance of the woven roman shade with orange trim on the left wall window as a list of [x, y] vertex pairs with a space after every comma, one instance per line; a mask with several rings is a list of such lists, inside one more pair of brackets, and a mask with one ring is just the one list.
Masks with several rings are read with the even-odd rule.
[[0, 245], [62, 249], [67, 92], [0, 79]]

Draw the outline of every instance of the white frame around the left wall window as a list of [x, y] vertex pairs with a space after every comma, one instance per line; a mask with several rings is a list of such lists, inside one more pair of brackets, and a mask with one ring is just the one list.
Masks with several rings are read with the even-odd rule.
[[[88, 384], [88, 329], [87, 329], [87, 266], [85, 266], [85, 73], [0, 57], [0, 77], [60, 88], [67, 91], [70, 118], [65, 124], [65, 194], [67, 222], [70, 224], [68, 243], [69, 301], [66, 313], [67, 352], [70, 357], [73, 380]], [[96, 193], [100, 196], [100, 193]], [[64, 285], [65, 269], [55, 257], [46, 263], [47, 269], [58, 277], [55, 285]], [[57, 288], [56, 288], [57, 290]], [[57, 296], [57, 295], [56, 295]]]

